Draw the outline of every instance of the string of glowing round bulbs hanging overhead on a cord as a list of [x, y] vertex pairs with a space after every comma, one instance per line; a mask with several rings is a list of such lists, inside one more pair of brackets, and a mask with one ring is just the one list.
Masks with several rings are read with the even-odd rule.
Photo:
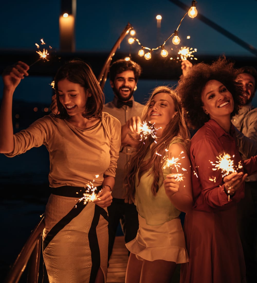
[[[179, 25], [178, 25], [178, 28], [174, 31], [174, 33], [172, 33], [172, 34], [164, 41], [164, 43], [163, 43], [162, 45], [157, 46], [156, 48], [148, 48], [148, 47], [142, 45], [142, 44], [139, 42], [139, 40], [138, 40], [137, 38], [135, 38], [135, 37], [134, 37], [134, 38], [133, 38], [133, 37], [130, 37], [130, 38], [128, 39], [128, 43], [129, 43], [129, 44], [133, 44], [133, 43], [136, 41], [136, 42], [141, 46], [141, 49], [138, 51], [138, 55], [139, 55], [140, 57], [144, 56], [144, 58], [145, 58], [146, 60], [151, 59], [151, 57], [152, 57], [152, 55], [151, 55], [152, 51], [157, 50], [157, 49], [159, 49], [159, 48], [162, 49], [162, 50], [161, 50], [161, 56], [167, 57], [167, 56], [168, 56], [168, 51], [165, 50], [165, 49], [163, 48], [163, 46], [165, 45], [165, 43], [167, 42], [167, 40], [169, 40], [170, 37], [172, 37], [173, 35], [174, 35], [174, 37], [172, 38], [172, 43], [175, 44], [175, 45], [180, 44], [180, 38], [178, 37], [178, 29], [179, 29], [179, 27], [180, 27], [180, 25], [181, 25], [183, 19], [185, 18], [185, 16], [186, 16], [187, 14], [188, 14], [190, 17], [192, 17], [192, 15], [193, 15], [193, 18], [197, 15], [197, 10], [196, 10], [195, 6], [196, 6], [196, 1], [194, 0], [194, 1], [192, 1], [192, 7], [191, 7], [192, 9], [190, 8], [191, 10], [194, 10], [193, 14], [191, 13], [191, 14], [189, 15], [189, 11], [186, 12], [186, 13], [184, 14], [183, 18], [181, 19], [181, 21], [180, 21], [180, 23], [179, 23]], [[161, 15], [157, 15], [157, 16], [156, 16], [157, 22], [158, 22], [158, 21], [161, 21], [161, 18], [162, 18]], [[133, 28], [132, 28], [131, 31], [133, 31]], [[130, 35], [131, 35], [131, 36], [134, 36], [134, 33], [132, 33], [132, 34], [130, 33]], [[190, 38], [190, 36], [188, 36], [187, 38]], [[149, 52], [145, 53], [144, 49], [149, 50]], [[193, 56], [192, 56], [192, 57], [193, 57]], [[178, 59], [179, 59], [179, 58], [178, 58]], [[192, 59], [192, 58], [191, 58], [191, 59]], [[172, 58], [171, 58], [171, 60], [172, 60]]]

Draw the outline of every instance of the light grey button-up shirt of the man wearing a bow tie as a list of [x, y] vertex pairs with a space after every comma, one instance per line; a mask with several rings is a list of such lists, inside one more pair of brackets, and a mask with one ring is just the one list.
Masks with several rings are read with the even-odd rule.
[[[114, 97], [113, 101], [108, 102], [103, 106], [103, 111], [111, 114], [120, 121], [121, 125], [124, 125], [133, 116], [141, 117], [145, 107], [143, 104], [136, 102], [133, 97], [132, 100], [133, 106], [131, 108], [127, 105], [123, 105], [121, 108], [117, 108], [117, 98]], [[122, 150], [122, 147], [120, 148], [120, 150]], [[126, 164], [133, 150], [133, 147], [126, 146], [119, 154], [115, 185], [112, 189], [113, 198], [125, 198], [125, 189], [123, 187], [124, 173], [126, 172]]]

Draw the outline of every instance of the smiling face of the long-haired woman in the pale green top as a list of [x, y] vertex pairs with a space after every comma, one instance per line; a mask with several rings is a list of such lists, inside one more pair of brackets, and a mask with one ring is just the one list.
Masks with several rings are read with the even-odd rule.
[[157, 128], [164, 128], [174, 118], [177, 111], [173, 99], [168, 93], [157, 93], [151, 100], [147, 112], [147, 119]]

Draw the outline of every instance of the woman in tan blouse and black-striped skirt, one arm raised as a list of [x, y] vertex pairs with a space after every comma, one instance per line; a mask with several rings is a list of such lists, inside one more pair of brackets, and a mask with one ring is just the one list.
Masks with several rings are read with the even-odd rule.
[[[45, 145], [52, 194], [46, 205], [43, 256], [50, 283], [106, 282], [108, 216], [120, 122], [102, 112], [103, 92], [90, 67], [71, 61], [55, 77], [60, 114], [51, 113], [13, 134], [12, 96], [29, 66], [18, 62], [3, 72], [0, 152], [9, 157]], [[79, 201], [85, 187], [98, 198]]]

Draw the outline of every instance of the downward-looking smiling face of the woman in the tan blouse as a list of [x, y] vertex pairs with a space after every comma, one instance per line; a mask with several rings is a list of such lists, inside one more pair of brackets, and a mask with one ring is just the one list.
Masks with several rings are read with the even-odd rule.
[[87, 97], [91, 96], [79, 83], [67, 79], [58, 82], [58, 93], [62, 106], [70, 116], [84, 113]]

